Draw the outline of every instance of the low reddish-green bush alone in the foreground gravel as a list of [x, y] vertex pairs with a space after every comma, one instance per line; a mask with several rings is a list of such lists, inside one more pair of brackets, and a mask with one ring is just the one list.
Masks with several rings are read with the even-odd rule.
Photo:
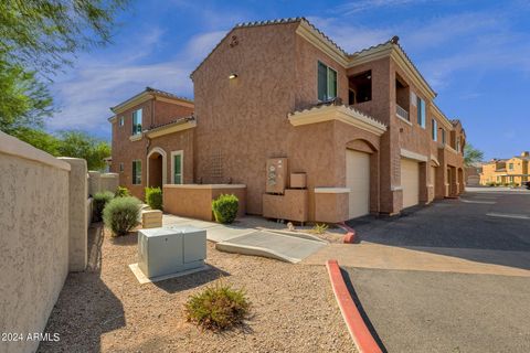
[[184, 304], [184, 312], [189, 322], [203, 329], [222, 331], [243, 323], [250, 306], [244, 290], [218, 282], [191, 296]]

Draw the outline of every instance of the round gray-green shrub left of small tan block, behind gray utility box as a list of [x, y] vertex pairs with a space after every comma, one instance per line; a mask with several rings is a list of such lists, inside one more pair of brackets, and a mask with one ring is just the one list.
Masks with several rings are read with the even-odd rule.
[[140, 206], [140, 200], [132, 196], [114, 199], [103, 210], [105, 226], [116, 236], [127, 234], [139, 224]]

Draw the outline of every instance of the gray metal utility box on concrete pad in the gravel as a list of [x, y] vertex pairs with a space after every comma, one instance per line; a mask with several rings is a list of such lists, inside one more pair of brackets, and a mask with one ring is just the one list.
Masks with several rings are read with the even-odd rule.
[[138, 267], [149, 278], [204, 266], [206, 231], [189, 225], [138, 231]]

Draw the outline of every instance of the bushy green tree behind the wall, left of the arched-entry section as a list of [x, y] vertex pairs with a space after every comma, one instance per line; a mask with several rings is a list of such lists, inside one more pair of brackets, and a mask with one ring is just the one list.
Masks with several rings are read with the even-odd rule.
[[104, 158], [110, 156], [108, 142], [91, 137], [83, 131], [61, 131], [57, 156], [83, 158], [88, 170], [105, 168]]

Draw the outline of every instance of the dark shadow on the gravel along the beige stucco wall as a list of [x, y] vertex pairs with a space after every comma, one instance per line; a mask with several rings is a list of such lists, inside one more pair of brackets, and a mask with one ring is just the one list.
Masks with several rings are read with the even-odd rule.
[[45, 332], [59, 333], [59, 342], [41, 342], [38, 352], [100, 352], [100, 339], [125, 325], [121, 301], [100, 279], [103, 224], [88, 228], [88, 266], [68, 274]]

